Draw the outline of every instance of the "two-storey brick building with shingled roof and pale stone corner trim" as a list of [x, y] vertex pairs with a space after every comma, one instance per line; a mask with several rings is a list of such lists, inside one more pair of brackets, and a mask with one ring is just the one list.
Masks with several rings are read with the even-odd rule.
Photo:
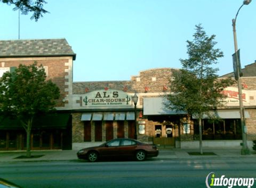
[[[31, 149], [71, 149], [72, 66], [76, 54], [66, 39], [0, 41], [0, 77], [20, 64], [42, 64], [47, 79], [60, 88], [55, 115], [38, 117], [31, 134]], [[0, 150], [22, 150], [25, 130], [13, 119], [0, 118]]]

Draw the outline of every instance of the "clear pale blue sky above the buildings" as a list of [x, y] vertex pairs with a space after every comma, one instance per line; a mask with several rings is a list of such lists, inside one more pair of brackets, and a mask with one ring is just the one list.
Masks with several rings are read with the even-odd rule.
[[[218, 75], [233, 71], [232, 19], [243, 0], [46, 0], [37, 22], [20, 16], [20, 39], [66, 38], [76, 60], [73, 81], [123, 81], [140, 71], [181, 68], [195, 25], [223, 51]], [[0, 40], [18, 39], [18, 11], [0, 3]], [[236, 20], [241, 65], [256, 60], [256, 0]]]

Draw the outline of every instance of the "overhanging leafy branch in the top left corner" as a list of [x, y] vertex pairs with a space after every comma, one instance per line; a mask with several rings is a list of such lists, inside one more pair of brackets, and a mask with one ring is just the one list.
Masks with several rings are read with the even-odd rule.
[[43, 8], [43, 5], [47, 3], [45, 0], [0, 0], [0, 2], [8, 5], [13, 4], [15, 6], [13, 10], [20, 10], [25, 15], [28, 12], [33, 12], [30, 19], [35, 19], [35, 21], [38, 21], [42, 17], [42, 14], [48, 12]]

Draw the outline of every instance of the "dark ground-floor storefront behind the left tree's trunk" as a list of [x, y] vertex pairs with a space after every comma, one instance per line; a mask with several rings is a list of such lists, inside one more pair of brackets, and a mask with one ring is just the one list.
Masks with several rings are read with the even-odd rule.
[[[35, 118], [31, 149], [71, 149], [71, 115], [56, 113]], [[16, 119], [0, 119], [0, 151], [25, 150], [26, 131]]]

